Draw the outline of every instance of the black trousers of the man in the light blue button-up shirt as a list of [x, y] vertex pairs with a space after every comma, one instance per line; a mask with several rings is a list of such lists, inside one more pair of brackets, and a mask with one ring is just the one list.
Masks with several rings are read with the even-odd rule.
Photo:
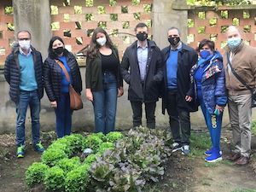
[[133, 115], [132, 115], [133, 127], [142, 125], [143, 103], [145, 105], [147, 127], [150, 129], [154, 129], [155, 128], [154, 111], [155, 111], [155, 107], [156, 107], [156, 102], [131, 101], [131, 108], [132, 108], [132, 113], [133, 113]]

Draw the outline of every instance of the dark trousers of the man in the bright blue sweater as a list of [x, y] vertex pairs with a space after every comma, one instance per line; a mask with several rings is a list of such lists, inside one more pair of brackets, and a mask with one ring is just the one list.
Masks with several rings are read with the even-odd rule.
[[173, 142], [189, 144], [190, 116], [189, 110], [177, 108], [177, 90], [169, 90], [167, 113], [172, 131]]

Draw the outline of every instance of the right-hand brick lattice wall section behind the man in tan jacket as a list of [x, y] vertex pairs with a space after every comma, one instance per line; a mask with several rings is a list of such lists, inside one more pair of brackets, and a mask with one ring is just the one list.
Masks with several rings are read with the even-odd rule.
[[189, 10], [188, 43], [196, 48], [203, 38], [212, 39], [216, 48], [223, 54], [226, 45], [226, 29], [237, 26], [246, 44], [256, 47], [256, 12], [255, 9], [230, 9], [229, 7], [213, 10]]

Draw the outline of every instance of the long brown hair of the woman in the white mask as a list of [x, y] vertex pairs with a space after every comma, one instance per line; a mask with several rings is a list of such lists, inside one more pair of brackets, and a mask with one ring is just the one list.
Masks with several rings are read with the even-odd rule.
[[106, 41], [106, 46], [107, 46], [108, 48], [110, 48], [110, 49], [113, 49], [113, 43], [112, 43], [111, 39], [109, 38], [108, 33], [107, 33], [104, 29], [102, 29], [102, 27], [97, 27], [97, 28], [93, 31], [92, 37], [91, 37], [91, 39], [90, 39], [90, 47], [89, 47], [89, 49], [87, 50], [87, 55], [88, 55], [89, 57], [91, 57], [91, 58], [94, 58], [94, 57], [96, 56], [97, 51], [98, 51], [98, 50], [100, 49], [100, 47], [101, 47], [101, 46], [100, 46], [99, 44], [97, 44], [97, 42], [96, 42], [96, 35], [97, 35], [97, 33], [99, 33], [99, 32], [103, 33], [103, 34], [106, 36], [106, 39], [107, 39], [107, 41]]

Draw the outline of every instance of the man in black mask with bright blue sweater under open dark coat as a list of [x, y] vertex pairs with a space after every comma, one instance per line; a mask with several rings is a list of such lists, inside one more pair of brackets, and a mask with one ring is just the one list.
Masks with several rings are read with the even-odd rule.
[[189, 112], [197, 110], [194, 102], [189, 102], [189, 71], [197, 61], [197, 53], [180, 41], [176, 27], [168, 30], [170, 43], [162, 49], [164, 55], [164, 96], [163, 113], [167, 109], [172, 131], [172, 152], [182, 150], [189, 154], [190, 117]]

